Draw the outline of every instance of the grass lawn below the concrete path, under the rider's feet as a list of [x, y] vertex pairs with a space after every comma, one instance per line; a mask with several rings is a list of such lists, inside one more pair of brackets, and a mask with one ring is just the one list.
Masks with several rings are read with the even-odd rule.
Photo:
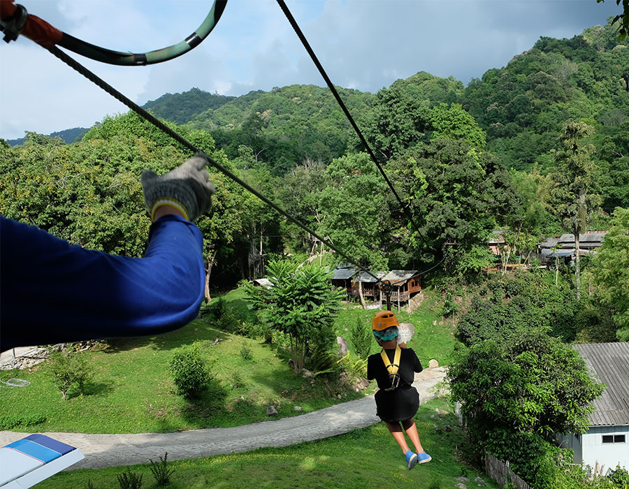
[[[175, 472], [166, 487], [454, 489], [455, 478], [465, 475], [470, 488], [477, 487], [473, 482], [477, 476], [487, 487], [498, 488], [487, 476], [456, 460], [454, 454], [466, 446], [466, 441], [448, 402], [433, 400], [421, 405], [415, 419], [421, 442], [433, 460], [412, 471], [406, 468], [404, 456], [384, 423], [378, 423], [347, 435], [286, 448], [168, 462]], [[148, 465], [136, 465], [131, 470], [142, 474], [144, 488], [157, 487]], [[120, 487], [116, 476], [123, 471], [124, 467], [111, 467], [62, 472], [37, 487], [82, 489], [92, 481], [96, 489], [114, 489]]]

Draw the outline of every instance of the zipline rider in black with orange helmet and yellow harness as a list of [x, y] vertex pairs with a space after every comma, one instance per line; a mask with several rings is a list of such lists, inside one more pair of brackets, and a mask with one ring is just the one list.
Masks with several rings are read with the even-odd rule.
[[[422, 370], [421, 363], [415, 352], [407, 348], [405, 343], [398, 344], [398, 328], [398, 319], [393, 312], [380, 311], [375, 315], [372, 331], [375, 340], [382, 346], [382, 352], [369, 356], [367, 378], [377, 381], [379, 391], [375, 394], [376, 414], [386, 423], [386, 428], [389, 428], [389, 432], [402, 448], [410, 470], [417, 463], [430, 462], [431, 455], [421, 446], [413, 418], [419, 408], [419, 394], [412, 383], [414, 372]], [[412, 441], [416, 452], [408, 447], [404, 432]]]

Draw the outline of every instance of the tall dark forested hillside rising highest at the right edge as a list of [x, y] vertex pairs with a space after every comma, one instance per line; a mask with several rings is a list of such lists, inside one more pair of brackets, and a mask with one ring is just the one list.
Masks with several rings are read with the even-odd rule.
[[508, 167], [546, 166], [567, 119], [593, 125], [597, 147], [629, 130], [629, 50], [609, 26], [570, 40], [540, 38], [505, 68], [472, 80], [461, 103]]

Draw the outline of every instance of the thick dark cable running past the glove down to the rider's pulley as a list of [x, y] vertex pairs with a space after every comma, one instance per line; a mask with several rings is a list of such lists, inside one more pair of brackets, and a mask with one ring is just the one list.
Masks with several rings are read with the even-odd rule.
[[[46, 49], [48, 51], [50, 51], [52, 54], [54, 54], [55, 57], [57, 57], [57, 58], [61, 59], [62, 61], [64, 61], [65, 64], [67, 64], [68, 66], [73, 68], [75, 71], [78, 71], [78, 73], [80, 73], [81, 75], [85, 76], [85, 78], [87, 78], [89, 81], [91, 81], [94, 84], [98, 85], [99, 87], [101, 87], [101, 89], [105, 90], [105, 92], [107, 92], [108, 94], [110, 94], [111, 96], [116, 98], [118, 101], [122, 102], [124, 105], [129, 107], [134, 112], [136, 112], [140, 117], [143, 117], [144, 119], [146, 119], [147, 122], [150, 122], [151, 124], [156, 126], [158, 129], [161, 129], [161, 131], [164, 131], [164, 133], [168, 134], [168, 136], [171, 136], [171, 138], [173, 138], [178, 143], [184, 145], [185, 147], [190, 149], [192, 152], [195, 152], [195, 153], [196, 152], [201, 152], [201, 149], [198, 149], [198, 147], [196, 147], [195, 145], [190, 143], [187, 139], [185, 139], [182, 136], [180, 136], [179, 133], [173, 131], [173, 129], [171, 129], [170, 127], [166, 126], [166, 124], [164, 124], [163, 122], [159, 121], [159, 119], [157, 119], [156, 117], [151, 115], [149, 112], [147, 112], [146, 110], [141, 108], [140, 105], [138, 105], [137, 103], [131, 101], [129, 98], [126, 98], [126, 96], [124, 96], [122, 93], [118, 92], [114, 87], [109, 85], [105, 80], [99, 78], [98, 75], [96, 75], [96, 74], [92, 73], [91, 71], [89, 71], [87, 68], [85, 68], [85, 66], [82, 66], [80, 63], [78, 63], [78, 61], [76, 61], [75, 59], [72, 59], [71, 57], [69, 57], [68, 54], [66, 54], [65, 52], [63, 52], [62, 50], [57, 48], [56, 46], [49, 46]], [[273, 203], [271, 200], [268, 200], [268, 198], [266, 198], [265, 196], [260, 194], [259, 191], [256, 191], [256, 189], [251, 187], [249, 184], [247, 184], [243, 180], [240, 180], [239, 177], [237, 177], [236, 175], [231, 173], [231, 171], [229, 171], [227, 168], [225, 168], [220, 163], [215, 161], [215, 159], [213, 159], [211, 156], [208, 156], [208, 155], [206, 155], [206, 156], [208, 157], [208, 163], [210, 163], [210, 165], [214, 166], [217, 170], [219, 170], [219, 172], [221, 172], [224, 175], [226, 175], [227, 177], [229, 177], [231, 180], [233, 180], [234, 182], [239, 184], [241, 187], [244, 187], [245, 189], [250, 191], [252, 194], [254, 194], [254, 196], [256, 196], [257, 198], [262, 200], [263, 203], [266, 203], [266, 205], [268, 205], [269, 207], [272, 207], [274, 210], [276, 210], [277, 212], [282, 214], [282, 216], [284, 216], [287, 219], [289, 219], [289, 221], [291, 221], [293, 224], [296, 224], [297, 226], [302, 228], [303, 231], [306, 231], [307, 233], [310, 233], [315, 238], [317, 238], [317, 240], [319, 240], [322, 243], [324, 243], [324, 245], [326, 245], [330, 249], [333, 249], [334, 251], [336, 251], [340, 256], [342, 256], [347, 261], [349, 261], [349, 263], [352, 263], [352, 265], [355, 265], [356, 267], [358, 267], [361, 270], [363, 270], [363, 272], [366, 272], [366, 273], [368, 273], [368, 275], [370, 275], [371, 277], [375, 278], [376, 281], [379, 281], [378, 277], [373, 275], [373, 273], [370, 272], [367, 268], [365, 268], [362, 265], [359, 265], [358, 263], [356, 263], [354, 260], [352, 260], [352, 258], [347, 256], [347, 254], [343, 253], [342, 251], [340, 251], [340, 249], [338, 249], [337, 247], [332, 245], [331, 242], [329, 242], [325, 238], [321, 238], [321, 236], [317, 235], [317, 233], [315, 233], [315, 231], [312, 231], [310, 228], [308, 228], [308, 226], [305, 226], [305, 224], [302, 224], [300, 221], [298, 221], [297, 219], [292, 217], [291, 214], [289, 214], [288, 212], [283, 210], [277, 204]]]

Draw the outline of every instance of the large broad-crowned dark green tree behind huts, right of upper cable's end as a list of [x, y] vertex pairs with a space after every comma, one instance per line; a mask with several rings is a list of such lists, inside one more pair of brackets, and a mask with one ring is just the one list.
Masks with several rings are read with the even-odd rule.
[[420, 227], [418, 232], [408, 224], [406, 242], [415, 255], [429, 263], [441, 258], [445, 243], [455, 243], [451, 257], [457, 272], [486, 266], [491, 255], [483, 243], [514, 200], [500, 162], [477, 154], [465, 140], [440, 138], [410, 149], [391, 167]]

